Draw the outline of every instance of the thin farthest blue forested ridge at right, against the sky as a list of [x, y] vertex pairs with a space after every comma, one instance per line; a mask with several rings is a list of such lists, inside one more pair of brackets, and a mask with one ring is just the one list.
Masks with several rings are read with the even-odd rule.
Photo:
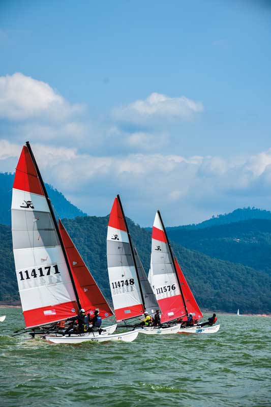
[[248, 219], [269, 219], [271, 220], [271, 212], [265, 211], [264, 209], [256, 208], [243, 208], [235, 209], [230, 213], [225, 213], [224, 215], [213, 215], [212, 218], [204, 220], [201, 223], [183, 225], [183, 226], [172, 226], [167, 227], [167, 230], [177, 230], [177, 229], [202, 229], [205, 227], [219, 226], [232, 222], [239, 222]]

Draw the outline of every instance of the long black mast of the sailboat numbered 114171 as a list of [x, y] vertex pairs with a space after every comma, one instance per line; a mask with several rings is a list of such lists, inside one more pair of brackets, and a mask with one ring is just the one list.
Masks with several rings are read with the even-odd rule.
[[29, 154], [30, 154], [30, 156], [31, 156], [31, 158], [32, 158], [32, 161], [33, 161], [33, 163], [34, 163], [34, 165], [35, 165], [35, 167], [36, 167], [36, 171], [37, 171], [37, 174], [38, 174], [38, 178], [39, 178], [39, 181], [40, 181], [40, 183], [41, 183], [41, 187], [42, 187], [42, 189], [43, 189], [44, 195], [45, 195], [46, 200], [47, 200], [47, 203], [48, 203], [48, 207], [49, 207], [49, 210], [50, 210], [52, 219], [53, 219], [54, 227], [55, 227], [55, 230], [56, 230], [56, 233], [57, 233], [59, 242], [60, 242], [60, 244], [61, 244], [61, 248], [62, 248], [62, 251], [63, 251], [63, 254], [64, 254], [64, 258], [65, 258], [65, 261], [66, 261], [66, 265], [67, 265], [67, 267], [68, 267], [68, 271], [69, 271], [69, 274], [70, 274], [70, 277], [71, 277], [71, 281], [72, 281], [72, 285], [73, 285], [73, 289], [74, 289], [76, 301], [77, 301], [77, 304], [78, 304], [78, 307], [79, 307], [79, 310], [80, 310], [80, 309], [81, 309], [80, 300], [79, 300], [79, 297], [78, 297], [78, 294], [77, 294], [75, 282], [74, 282], [73, 275], [72, 275], [72, 271], [71, 271], [71, 268], [70, 268], [70, 265], [69, 265], [69, 260], [68, 260], [67, 254], [66, 254], [66, 250], [65, 250], [65, 247], [64, 247], [64, 244], [63, 244], [63, 241], [62, 241], [62, 237], [61, 237], [61, 234], [60, 234], [60, 232], [59, 232], [58, 224], [57, 224], [57, 221], [56, 221], [55, 216], [54, 216], [54, 212], [53, 212], [53, 208], [52, 208], [52, 205], [51, 205], [51, 201], [50, 201], [50, 198], [49, 198], [48, 193], [47, 193], [47, 191], [46, 191], [46, 188], [45, 188], [45, 185], [44, 185], [44, 182], [43, 182], [43, 179], [42, 179], [42, 176], [41, 176], [41, 173], [40, 173], [38, 164], [37, 164], [36, 159], [35, 159], [35, 157], [34, 157], [34, 154], [33, 154], [33, 151], [32, 151], [32, 149], [31, 149], [31, 146], [30, 146], [29, 141], [26, 141], [26, 147], [27, 147], [27, 149], [28, 149], [28, 151], [29, 151]]

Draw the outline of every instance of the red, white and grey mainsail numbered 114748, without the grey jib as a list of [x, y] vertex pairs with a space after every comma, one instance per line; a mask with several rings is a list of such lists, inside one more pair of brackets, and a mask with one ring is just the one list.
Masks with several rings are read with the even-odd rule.
[[107, 266], [116, 320], [142, 315], [142, 296], [118, 198], [114, 200], [108, 222]]

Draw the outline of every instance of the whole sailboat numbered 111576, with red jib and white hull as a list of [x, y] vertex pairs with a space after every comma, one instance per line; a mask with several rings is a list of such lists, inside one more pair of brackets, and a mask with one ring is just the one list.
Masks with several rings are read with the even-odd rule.
[[[202, 312], [172, 252], [160, 211], [157, 211], [153, 224], [148, 279], [162, 310], [161, 322], [171, 322], [178, 318], [187, 321], [189, 313], [194, 315], [196, 321], [202, 318]], [[182, 327], [178, 332], [213, 332], [210, 328], [213, 327]]]

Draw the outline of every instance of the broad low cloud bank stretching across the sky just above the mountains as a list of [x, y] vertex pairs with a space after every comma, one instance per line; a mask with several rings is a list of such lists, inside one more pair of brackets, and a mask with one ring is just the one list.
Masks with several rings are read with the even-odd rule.
[[[83, 211], [103, 216], [121, 193], [127, 216], [150, 225], [157, 208], [167, 224], [197, 222], [237, 207], [271, 207], [271, 149], [254, 156], [185, 158], [128, 154], [97, 157], [33, 144], [44, 181]], [[0, 141], [0, 170], [14, 170], [21, 146]], [[260, 168], [260, 170], [259, 170]]]

